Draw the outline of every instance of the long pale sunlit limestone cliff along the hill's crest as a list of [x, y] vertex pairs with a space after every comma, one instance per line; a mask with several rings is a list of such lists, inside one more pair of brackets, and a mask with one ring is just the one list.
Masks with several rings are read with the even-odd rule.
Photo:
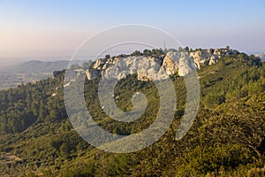
[[87, 79], [102, 76], [105, 79], [120, 80], [128, 74], [137, 73], [141, 81], [160, 80], [178, 73], [184, 76], [204, 65], [213, 65], [223, 56], [237, 55], [238, 50], [193, 50], [188, 52], [170, 51], [164, 58], [130, 56], [126, 58], [100, 58], [86, 71]]

